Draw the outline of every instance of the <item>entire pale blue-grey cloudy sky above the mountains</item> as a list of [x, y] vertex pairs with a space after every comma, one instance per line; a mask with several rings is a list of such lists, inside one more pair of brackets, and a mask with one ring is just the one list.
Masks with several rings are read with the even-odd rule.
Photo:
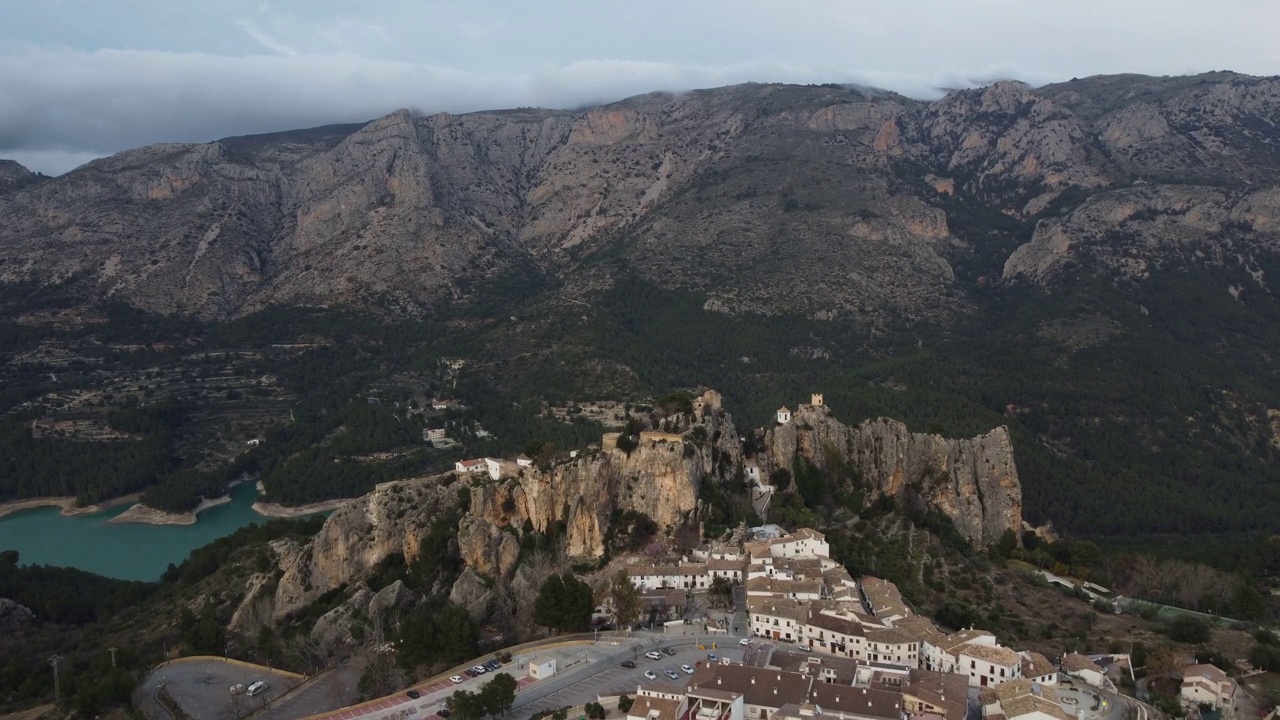
[[655, 90], [1280, 74], [1276, 0], [0, 0], [0, 158]]

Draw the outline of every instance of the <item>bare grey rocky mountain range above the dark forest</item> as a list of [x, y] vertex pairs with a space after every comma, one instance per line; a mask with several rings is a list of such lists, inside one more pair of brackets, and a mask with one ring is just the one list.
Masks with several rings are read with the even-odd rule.
[[[544, 277], [589, 299], [612, 283], [595, 261], [609, 256], [732, 314], [946, 320], [969, 305], [956, 263], [991, 241], [956, 234], [954, 199], [1030, 219], [1064, 193], [1140, 201], [1135, 181], [1265, 195], [1277, 110], [1280, 81], [1233, 73], [998, 82], [934, 102], [745, 85], [580, 113], [402, 110], [132, 150], [5, 192], [0, 281], [204, 318], [419, 314]], [[1039, 279], [1019, 272], [1036, 243], [1005, 281]]]

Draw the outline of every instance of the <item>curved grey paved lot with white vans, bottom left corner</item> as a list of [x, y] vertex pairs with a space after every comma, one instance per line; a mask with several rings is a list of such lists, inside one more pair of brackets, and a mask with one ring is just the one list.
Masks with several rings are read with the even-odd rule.
[[[233, 696], [230, 687], [248, 687], [253, 680], [266, 680], [270, 689], [257, 697]], [[298, 679], [284, 674], [269, 674], [220, 660], [192, 660], [166, 665], [151, 673], [138, 691], [147, 698], [154, 698], [161, 685], [178, 705], [195, 720], [237, 720], [251, 711], [266, 707], [283, 692], [298, 683]], [[154, 703], [145, 703], [148, 717], [168, 715]]]

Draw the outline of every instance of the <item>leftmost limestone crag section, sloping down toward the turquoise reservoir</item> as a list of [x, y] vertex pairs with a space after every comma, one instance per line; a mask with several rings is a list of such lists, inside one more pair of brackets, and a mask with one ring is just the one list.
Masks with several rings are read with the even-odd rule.
[[273, 615], [284, 618], [343, 584], [364, 578], [390, 555], [417, 557], [431, 521], [457, 503], [457, 491], [440, 478], [383, 483], [334, 510], [320, 532], [297, 552], [278, 550], [283, 575]]

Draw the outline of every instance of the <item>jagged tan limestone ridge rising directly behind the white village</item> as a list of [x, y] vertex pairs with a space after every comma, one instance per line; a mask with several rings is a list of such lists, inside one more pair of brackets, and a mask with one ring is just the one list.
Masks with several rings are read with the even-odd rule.
[[[704, 484], [751, 492], [735, 484], [745, 477], [745, 459], [732, 418], [718, 393], [703, 398], [705, 405], [691, 414], [668, 419], [669, 432], [644, 432], [635, 446], [614, 433], [579, 457], [522, 466], [500, 480], [451, 473], [379, 486], [335, 510], [308, 544], [275, 543], [280, 578], [274, 592], [270, 583], [253, 580], [242, 607], [259, 603], [257, 616], [278, 621], [328, 592], [358, 583], [390, 556], [402, 555], [412, 564], [431, 524], [453, 512], [463, 495], [467, 510], [452, 544], [465, 569], [452, 593], [475, 602], [488, 597], [493, 580], [536, 588], [536, 579], [516, 577], [531, 533], [558, 538], [566, 559], [577, 562], [603, 557], [612, 524], [627, 512], [653, 520], [660, 538], [681, 530], [700, 537]], [[868, 501], [913, 488], [977, 547], [1021, 528], [1021, 488], [1004, 428], [973, 439], [946, 439], [908, 433], [901, 423], [883, 418], [850, 428], [827, 407], [803, 406], [791, 423], [759, 432], [767, 451], [756, 460], [765, 478], [794, 466], [796, 456], [829, 470], [831, 448], [858, 468]], [[356, 597], [361, 606], [374, 600], [367, 591]], [[326, 620], [325, 633], [339, 632], [346, 626], [339, 620], [351, 612], [347, 607]], [[334, 624], [339, 630], [330, 628]]]

